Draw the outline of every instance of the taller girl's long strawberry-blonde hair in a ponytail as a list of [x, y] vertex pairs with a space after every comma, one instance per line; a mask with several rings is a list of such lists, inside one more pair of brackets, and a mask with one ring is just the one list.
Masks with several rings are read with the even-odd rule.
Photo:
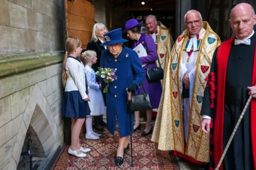
[[62, 84], [63, 86], [66, 85], [66, 81], [68, 79], [67, 72], [66, 72], [66, 62], [68, 59], [68, 55], [74, 52], [75, 48], [82, 45], [81, 41], [78, 38], [69, 37], [66, 40], [66, 53], [62, 64]]

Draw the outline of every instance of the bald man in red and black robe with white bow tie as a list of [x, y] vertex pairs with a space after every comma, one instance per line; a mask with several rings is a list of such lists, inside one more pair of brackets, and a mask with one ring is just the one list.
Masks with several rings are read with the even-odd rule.
[[[220, 170], [256, 168], [256, 15], [247, 3], [236, 5], [230, 14], [235, 36], [223, 42], [213, 55], [211, 72], [201, 110], [202, 130], [210, 132], [210, 169], [217, 167], [245, 103], [252, 101]], [[218, 100], [217, 100], [218, 99]], [[254, 168], [255, 167], [255, 168]]]

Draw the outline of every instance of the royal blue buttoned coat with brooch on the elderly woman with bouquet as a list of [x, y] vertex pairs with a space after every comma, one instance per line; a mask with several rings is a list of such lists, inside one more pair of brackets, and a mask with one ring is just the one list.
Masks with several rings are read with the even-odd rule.
[[[121, 137], [130, 135], [130, 113], [127, 112], [126, 88], [135, 83], [139, 87], [145, 80], [145, 71], [141, 67], [138, 54], [130, 48], [123, 46], [122, 52], [115, 58], [108, 50], [102, 51], [100, 67], [113, 68], [116, 70], [117, 79], [109, 84], [106, 94], [107, 102], [107, 127], [108, 131], [114, 135], [116, 116], [118, 119], [119, 133]], [[132, 114], [132, 133], [134, 112]]]

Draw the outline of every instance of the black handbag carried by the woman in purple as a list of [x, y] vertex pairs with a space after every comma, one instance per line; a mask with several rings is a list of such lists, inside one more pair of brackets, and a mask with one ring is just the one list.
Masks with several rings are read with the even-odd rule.
[[157, 60], [159, 63], [159, 67], [148, 68], [148, 64], [147, 64], [147, 77], [148, 77], [148, 80], [151, 82], [162, 80], [164, 78], [164, 70], [161, 67], [158, 56], [157, 56]]

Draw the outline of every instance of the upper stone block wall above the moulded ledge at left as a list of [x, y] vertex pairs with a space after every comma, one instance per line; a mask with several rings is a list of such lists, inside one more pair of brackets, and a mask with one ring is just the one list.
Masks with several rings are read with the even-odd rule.
[[1, 0], [0, 54], [63, 49], [61, 0]]

